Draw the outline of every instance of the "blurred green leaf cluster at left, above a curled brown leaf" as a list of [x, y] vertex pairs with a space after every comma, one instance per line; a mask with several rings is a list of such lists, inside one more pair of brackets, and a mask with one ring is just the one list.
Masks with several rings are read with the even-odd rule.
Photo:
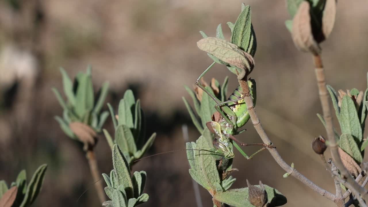
[[109, 90], [109, 83], [105, 82], [97, 93], [99, 96], [95, 97], [90, 67], [88, 67], [86, 73], [79, 72], [74, 78], [74, 83], [63, 68], [60, 68], [60, 72], [63, 76], [63, 89], [67, 101], [64, 101], [56, 88], [52, 88], [52, 90], [64, 110], [63, 118], [55, 117], [61, 129], [67, 136], [77, 140], [79, 140], [78, 137], [69, 126], [72, 122], [84, 123], [93, 130], [100, 132], [109, 116], [108, 111], [100, 113]]

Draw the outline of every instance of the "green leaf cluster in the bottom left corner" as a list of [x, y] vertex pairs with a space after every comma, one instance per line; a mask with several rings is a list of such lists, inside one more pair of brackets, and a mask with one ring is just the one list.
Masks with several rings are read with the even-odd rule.
[[[0, 200], [1, 197], [13, 186], [17, 186], [17, 196], [13, 206], [26, 207], [30, 206], [37, 198], [45, 178], [45, 172], [47, 165], [43, 164], [36, 169], [33, 173], [31, 180], [27, 183], [26, 171], [22, 170], [15, 182], [12, 182], [10, 187], [6, 184], [5, 180], [0, 180]], [[0, 202], [1, 203], [1, 202]]]

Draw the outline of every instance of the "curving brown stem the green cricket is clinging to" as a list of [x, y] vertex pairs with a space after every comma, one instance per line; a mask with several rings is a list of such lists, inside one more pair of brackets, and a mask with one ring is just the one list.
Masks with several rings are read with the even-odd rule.
[[[246, 80], [246, 78], [245, 78], [245, 80]], [[272, 142], [268, 138], [265, 130], [262, 127], [261, 121], [259, 120], [258, 115], [255, 112], [253, 100], [252, 100], [252, 97], [251, 97], [251, 94], [250, 94], [250, 91], [249, 91], [249, 87], [248, 87], [247, 81], [245, 81], [245, 80], [239, 80], [239, 83], [240, 83], [240, 85], [243, 89], [243, 92], [244, 92], [244, 101], [247, 104], [247, 109], [248, 109], [249, 115], [251, 117], [253, 126], [254, 126], [255, 130], [257, 131], [257, 133], [259, 134], [259, 136], [261, 137], [263, 143], [270, 144]], [[326, 197], [327, 199], [332, 200], [332, 201], [335, 200], [336, 196], [334, 194], [332, 194], [332, 193], [328, 192], [327, 190], [322, 189], [321, 187], [317, 186], [311, 180], [309, 180], [304, 175], [302, 175], [300, 172], [298, 172], [296, 169], [291, 168], [291, 166], [289, 166], [282, 159], [282, 157], [280, 156], [280, 154], [276, 150], [276, 148], [267, 148], [267, 150], [270, 152], [270, 154], [272, 155], [273, 159], [275, 159], [277, 164], [279, 164], [280, 167], [283, 168], [286, 172], [289, 172], [291, 176], [293, 176], [294, 178], [300, 180], [306, 186], [308, 186], [309, 188], [311, 188], [315, 192], [321, 194], [323, 197]]]

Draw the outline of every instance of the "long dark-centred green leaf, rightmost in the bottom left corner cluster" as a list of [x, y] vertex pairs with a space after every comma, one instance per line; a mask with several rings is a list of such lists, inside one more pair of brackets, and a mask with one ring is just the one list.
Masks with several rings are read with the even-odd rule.
[[33, 173], [32, 179], [28, 184], [27, 191], [25, 193], [24, 199], [20, 207], [28, 206], [35, 201], [38, 193], [40, 192], [45, 178], [45, 172], [47, 165], [43, 164], [38, 167], [38, 169]]

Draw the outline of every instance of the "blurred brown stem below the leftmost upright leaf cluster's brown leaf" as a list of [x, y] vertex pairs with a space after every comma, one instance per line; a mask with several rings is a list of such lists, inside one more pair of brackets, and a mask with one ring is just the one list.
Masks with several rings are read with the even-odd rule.
[[86, 152], [86, 157], [88, 159], [89, 169], [91, 170], [93, 181], [95, 182], [95, 188], [98, 198], [100, 199], [100, 203], [102, 204], [106, 201], [106, 197], [103, 190], [102, 182], [99, 182], [101, 173], [98, 169], [95, 152], [93, 150], [88, 150]]

